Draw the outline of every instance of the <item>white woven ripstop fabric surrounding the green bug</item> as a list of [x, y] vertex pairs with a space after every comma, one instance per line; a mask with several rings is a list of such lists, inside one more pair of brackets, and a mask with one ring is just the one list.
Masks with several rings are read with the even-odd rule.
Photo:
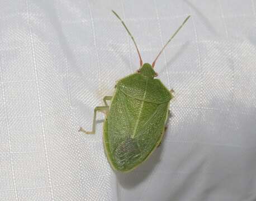
[[[255, 0], [1, 1], [0, 200], [256, 200]], [[162, 145], [116, 174], [93, 108], [138, 69], [175, 90]]]

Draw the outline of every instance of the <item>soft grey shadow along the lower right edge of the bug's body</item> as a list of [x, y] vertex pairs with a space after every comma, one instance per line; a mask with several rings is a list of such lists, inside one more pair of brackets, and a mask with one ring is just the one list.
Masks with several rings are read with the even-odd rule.
[[[169, 113], [168, 119], [172, 118], [172, 112]], [[132, 170], [129, 173], [120, 173], [116, 172], [116, 177], [118, 180], [118, 183], [126, 189], [134, 188], [136, 185], [139, 185], [142, 181], [144, 181], [146, 178], [148, 178], [149, 175], [151, 175], [161, 160], [161, 154], [164, 148], [164, 138], [165, 135], [168, 135], [168, 124], [169, 121], [167, 121], [167, 125], [165, 125], [165, 132], [162, 138], [162, 142], [157, 147], [157, 149], [153, 152], [153, 154], [148, 158], [148, 160], [144, 161], [137, 169]]]

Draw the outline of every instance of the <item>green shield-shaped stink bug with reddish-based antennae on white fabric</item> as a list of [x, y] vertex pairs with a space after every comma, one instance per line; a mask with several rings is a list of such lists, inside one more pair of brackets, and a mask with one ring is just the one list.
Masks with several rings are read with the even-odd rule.
[[[107, 159], [114, 170], [127, 172], [148, 159], [162, 140], [169, 114], [169, 103], [173, 95], [172, 90], [165, 88], [159, 79], [154, 79], [157, 73], [153, 68], [164, 48], [190, 16], [170, 37], [150, 65], [143, 64], [134, 37], [117, 13], [112, 12], [122, 22], [135, 44], [140, 59], [140, 69], [118, 80], [113, 96], [103, 98], [105, 106], [94, 109], [92, 131], [87, 132], [83, 128], [80, 128], [80, 131], [87, 134], [95, 133], [97, 111], [105, 111], [103, 143]], [[111, 100], [110, 106], [107, 100]]]

